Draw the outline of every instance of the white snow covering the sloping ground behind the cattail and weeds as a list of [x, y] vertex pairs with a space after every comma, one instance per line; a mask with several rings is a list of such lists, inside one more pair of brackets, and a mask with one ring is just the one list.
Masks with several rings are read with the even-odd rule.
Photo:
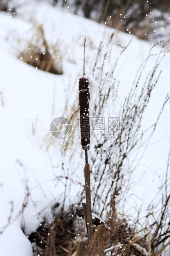
[[[75, 94], [78, 94], [77, 79], [82, 76], [84, 36], [87, 39], [86, 70], [91, 75], [91, 63], [95, 61], [100, 42], [105, 44], [114, 32], [45, 3], [30, 3], [29, 6], [22, 5], [16, 16], [0, 12], [0, 255], [4, 256], [31, 256], [31, 244], [20, 227], [24, 226], [27, 234], [35, 231], [43, 217], [48, 216], [48, 206], [63, 198], [61, 194], [65, 191], [65, 184], [56, 179], [56, 176], [63, 175], [62, 170], [51, 166], [53, 155], [56, 166], [61, 162], [60, 142], [55, 144], [56, 148], [51, 145], [47, 150], [46, 140], [55, 140], [49, 134], [49, 126], [54, 117], [62, 116], [66, 99], [70, 97], [73, 103]], [[17, 59], [19, 47], [24, 46], [35, 22], [43, 24], [51, 44], [58, 42], [61, 45], [63, 75], [35, 69]], [[115, 62], [122, 45], [127, 45], [132, 37], [115, 31], [112, 41], [114, 55], [110, 65]], [[114, 74], [120, 81], [120, 95], [126, 95], [130, 90], [136, 71], [151, 46], [134, 37], [121, 56]], [[154, 51], [160, 50], [161, 47], [157, 46]], [[154, 62], [153, 57], [144, 69], [144, 79]], [[170, 53], [167, 53], [161, 62], [163, 71], [158, 85], [144, 115], [144, 128], [156, 121], [165, 95], [170, 93], [169, 62]], [[72, 90], [71, 96], [68, 90]], [[151, 201], [165, 173], [170, 148], [169, 115], [170, 102], [166, 104], [133, 177], [136, 185], [132, 192], [140, 197], [139, 204], [144, 200], [146, 204]], [[82, 149], [79, 147], [77, 150], [81, 152]], [[145, 174], [139, 181], [143, 172]], [[83, 173], [80, 181], [83, 182]], [[69, 205], [70, 200], [75, 202], [77, 190], [79, 186], [74, 185], [66, 204]], [[133, 206], [133, 200], [136, 197], [129, 199], [129, 207]], [[22, 216], [23, 204], [26, 208]]]

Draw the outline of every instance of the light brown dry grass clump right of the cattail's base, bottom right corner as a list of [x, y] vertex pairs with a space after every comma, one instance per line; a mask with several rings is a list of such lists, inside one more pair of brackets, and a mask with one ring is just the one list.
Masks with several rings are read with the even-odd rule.
[[[163, 190], [164, 187], [161, 187], [159, 193], [163, 193]], [[144, 217], [147, 220], [146, 225], [139, 225], [139, 218], [132, 221], [130, 216], [118, 214], [114, 201], [105, 230], [104, 255], [159, 256], [164, 252], [163, 255], [168, 256], [166, 251], [168, 252], [170, 245], [169, 203], [170, 195], [165, 198], [157, 219], [154, 209], [148, 209], [149, 214]]]

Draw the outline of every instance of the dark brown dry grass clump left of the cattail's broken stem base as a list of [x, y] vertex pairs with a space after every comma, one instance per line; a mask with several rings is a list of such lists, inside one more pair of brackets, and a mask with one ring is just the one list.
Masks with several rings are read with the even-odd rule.
[[[44, 220], [40, 227], [28, 237], [33, 245], [33, 255], [55, 256], [71, 255], [75, 249], [73, 230], [75, 217], [73, 211], [60, 214], [49, 223]], [[75, 216], [75, 215], [74, 215]]]

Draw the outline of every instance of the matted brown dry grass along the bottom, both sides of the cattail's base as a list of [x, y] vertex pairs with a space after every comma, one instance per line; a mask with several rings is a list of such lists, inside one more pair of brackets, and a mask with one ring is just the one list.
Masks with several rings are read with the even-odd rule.
[[[93, 237], [92, 245], [88, 246], [87, 234], [84, 232], [85, 221], [81, 211], [75, 214], [71, 210], [69, 214], [59, 214], [51, 223], [44, 220], [37, 230], [29, 235], [29, 240], [33, 245], [33, 255], [40, 256], [66, 256], [77, 255], [77, 245], [83, 239], [85, 245], [84, 255], [106, 255], [106, 256], [158, 256], [168, 246], [165, 243], [163, 246], [154, 246], [155, 241], [159, 242], [157, 225], [156, 230], [153, 228], [153, 223], [150, 226], [145, 226], [137, 230], [135, 223], [129, 224], [128, 216], [121, 216], [116, 213], [115, 203], [112, 209], [112, 215], [107, 218], [105, 227], [99, 218], [93, 219], [93, 231], [103, 229], [105, 242], [103, 244], [104, 254], [100, 254], [100, 241], [98, 243], [98, 235]], [[78, 224], [77, 224], [78, 223]], [[136, 221], [136, 224], [138, 220]], [[77, 228], [78, 227], [78, 228]], [[159, 227], [159, 228], [158, 228]], [[99, 232], [100, 233], [100, 232]], [[79, 235], [78, 235], [79, 234]], [[100, 235], [100, 234], [99, 234]], [[165, 235], [165, 234], [164, 234]], [[168, 239], [168, 231], [166, 232]], [[161, 235], [163, 237], [163, 234]], [[163, 238], [161, 238], [163, 239]]]

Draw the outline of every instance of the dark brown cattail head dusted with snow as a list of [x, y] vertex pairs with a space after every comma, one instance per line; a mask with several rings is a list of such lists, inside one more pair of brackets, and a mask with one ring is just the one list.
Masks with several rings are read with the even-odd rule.
[[90, 83], [85, 75], [79, 79], [79, 109], [80, 109], [80, 130], [82, 148], [90, 147], [90, 119], [89, 119], [89, 102], [90, 102]]

